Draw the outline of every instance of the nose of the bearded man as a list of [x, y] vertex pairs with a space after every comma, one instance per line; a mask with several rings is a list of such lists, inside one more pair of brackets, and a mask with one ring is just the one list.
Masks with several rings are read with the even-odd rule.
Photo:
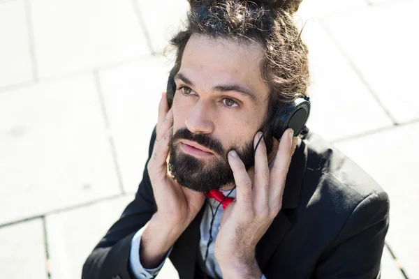
[[191, 133], [210, 134], [214, 130], [210, 104], [198, 100], [191, 114], [186, 118], [185, 125]]

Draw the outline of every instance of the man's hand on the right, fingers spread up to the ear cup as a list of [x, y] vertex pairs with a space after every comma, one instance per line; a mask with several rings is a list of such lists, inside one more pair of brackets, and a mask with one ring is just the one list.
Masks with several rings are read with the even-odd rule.
[[[260, 135], [256, 133], [253, 146]], [[228, 153], [236, 199], [223, 213], [214, 251], [224, 278], [262, 276], [255, 257], [256, 244], [281, 210], [286, 174], [298, 140], [298, 137], [293, 140], [293, 130], [285, 131], [271, 171], [263, 139], [255, 153], [254, 169], [247, 171], [235, 151]]]

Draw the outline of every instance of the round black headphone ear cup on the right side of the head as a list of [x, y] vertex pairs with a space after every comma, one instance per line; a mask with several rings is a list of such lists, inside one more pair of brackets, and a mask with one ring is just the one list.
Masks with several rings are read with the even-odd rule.
[[300, 135], [309, 119], [310, 110], [311, 103], [308, 96], [297, 98], [279, 107], [272, 121], [272, 136], [279, 141], [288, 128], [294, 130], [294, 137]]

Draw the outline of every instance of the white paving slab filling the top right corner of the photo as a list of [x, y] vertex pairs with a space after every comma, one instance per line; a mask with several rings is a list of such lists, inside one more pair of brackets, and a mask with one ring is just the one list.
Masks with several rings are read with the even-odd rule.
[[369, 6], [325, 24], [398, 122], [419, 119], [418, 1]]

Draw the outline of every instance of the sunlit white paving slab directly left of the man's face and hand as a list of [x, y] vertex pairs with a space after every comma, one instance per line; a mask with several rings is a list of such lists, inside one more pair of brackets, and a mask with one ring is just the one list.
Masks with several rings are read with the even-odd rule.
[[168, 61], [159, 57], [99, 72], [119, 169], [128, 192], [135, 192], [142, 179], [169, 70]]

